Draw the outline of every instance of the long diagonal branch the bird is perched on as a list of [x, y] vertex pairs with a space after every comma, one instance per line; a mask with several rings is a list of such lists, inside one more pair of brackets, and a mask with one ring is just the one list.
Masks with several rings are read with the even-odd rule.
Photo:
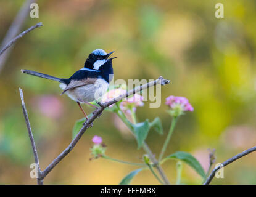
[[[64, 151], [62, 151], [62, 153], [60, 153], [59, 156], [57, 156], [56, 159], [54, 159], [52, 161], [51, 164], [49, 164], [49, 166], [46, 167], [46, 169], [41, 172], [41, 176], [40, 179], [43, 180], [44, 177], [46, 177], [47, 174], [49, 174], [49, 172], [52, 171], [52, 169], [54, 169], [54, 167], [63, 159], [65, 158], [65, 156], [68, 155], [68, 153], [70, 153], [70, 151], [72, 151], [72, 149], [75, 147], [76, 143], [78, 142], [78, 140], [80, 140], [80, 138], [82, 137], [82, 135], [85, 133], [86, 129], [88, 129], [89, 127], [92, 126], [93, 121], [99, 117], [102, 113], [102, 111], [109, 107], [109, 105], [112, 105], [116, 102], [118, 102], [119, 100], [122, 100], [123, 98], [126, 98], [132, 94], [135, 94], [136, 92], [140, 92], [141, 90], [147, 89], [148, 87], [151, 86], [155, 86], [156, 84], [161, 84], [162, 86], [165, 84], [170, 83], [169, 80], [163, 79], [162, 76], [160, 76], [158, 79], [156, 79], [155, 81], [149, 82], [147, 84], [143, 84], [142, 86], [139, 87], [135, 87], [133, 90], [130, 90], [128, 92], [126, 92], [126, 94], [120, 95], [117, 98], [114, 98], [113, 100], [110, 100], [109, 102], [106, 103], [100, 103], [101, 107], [98, 108], [97, 110], [93, 111], [93, 115], [91, 116], [91, 118], [89, 118], [84, 124], [83, 127], [80, 129], [80, 131], [78, 132], [78, 134], [76, 135], [76, 137], [72, 140], [72, 142], [70, 143], [70, 145], [68, 145], [67, 148], [65, 148]], [[159, 169], [159, 167], [157, 168]]]

